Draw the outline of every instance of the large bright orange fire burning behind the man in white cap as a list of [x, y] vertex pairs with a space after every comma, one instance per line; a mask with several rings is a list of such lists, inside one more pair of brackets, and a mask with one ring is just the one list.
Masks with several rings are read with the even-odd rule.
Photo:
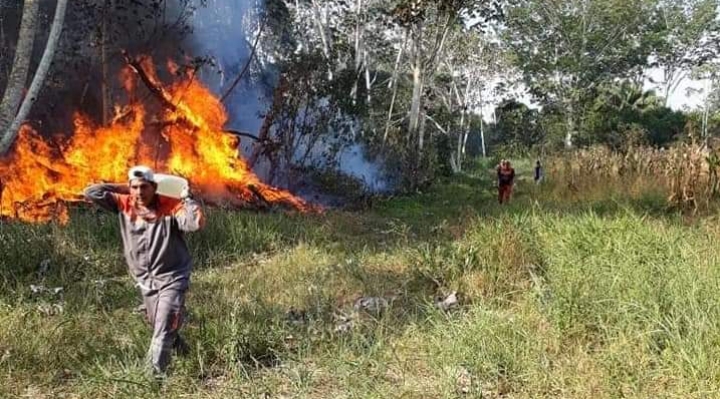
[[[149, 59], [148, 76], [159, 82]], [[120, 74], [129, 98], [138, 86], [135, 74]], [[69, 220], [67, 204], [82, 202], [90, 183], [125, 182], [133, 165], [186, 177], [203, 199], [242, 207], [259, 200], [308, 211], [313, 206], [289, 192], [264, 184], [238, 154], [238, 138], [223, 129], [222, 103], [190, 76], [161, 86], [171, 107], [152, 111], [134, 102], [116, 107], [109, 126], [73, 116], [67, 139], [43, 139], [23, 125], [11, 152], [0, 158], [0, 218], [27, 222]], [[259, 197], [261, 198], [259, 198]]]

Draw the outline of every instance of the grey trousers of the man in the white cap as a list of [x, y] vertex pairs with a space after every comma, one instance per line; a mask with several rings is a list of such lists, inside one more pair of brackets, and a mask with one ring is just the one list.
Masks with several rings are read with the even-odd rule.
[[173, 344], [183, 322], [185, 291], [166, 289], [143, 295], [145, 316], [153, 329], [148, 361], [157, 373], [170, 364]]

